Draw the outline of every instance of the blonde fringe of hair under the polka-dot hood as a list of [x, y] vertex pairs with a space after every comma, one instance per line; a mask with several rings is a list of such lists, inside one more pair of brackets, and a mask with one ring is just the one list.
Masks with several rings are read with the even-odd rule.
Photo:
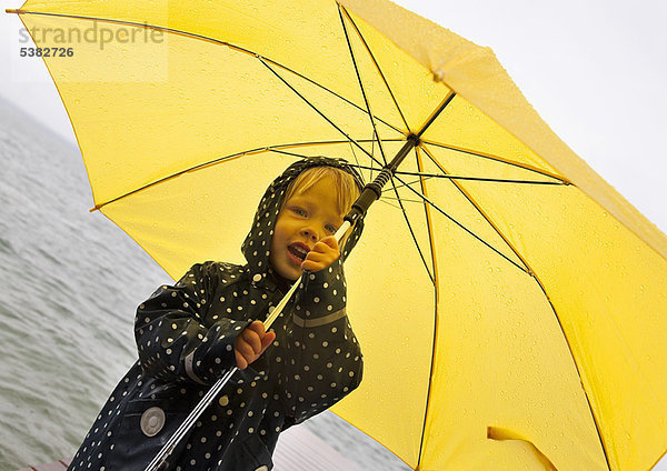
[[355, 200], [359, 198], [359, 187], [357, 187], [355, 178], [351, 174], [336, 167], [320, 166], [303, 170], [287, 187], [282, 203], [285, 204], [296, 193], [308, 191], [310, 187], [323, 178], [334, 180], [334, 184], [338, 189], [336, 196], [338, 212], [344, 216], [347, 214], [352, 208]]

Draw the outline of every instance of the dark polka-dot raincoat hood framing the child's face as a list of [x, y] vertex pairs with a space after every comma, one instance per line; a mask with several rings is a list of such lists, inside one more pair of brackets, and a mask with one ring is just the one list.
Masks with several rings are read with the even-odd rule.
[[[287, 170], [276, 178], [269, 188], [267, 188], [267, 191], [259, 202], [257, 212], [255, 213], [252, 228], [241, 245], [241, 251], [248, 261], [251, 272], [261, 273], [262, 277], [266, 277], [267, 273], [276, 275], [269, 262], [269, 248], [271, 247], [271, 237], [273, 236], [272, 228], [280, 213], [282, 201], [285, 200], [285, 194], [289, 184], [301, 172], [313, 167], [335, 167], [341, 169], [354, 177], [359, 191], [364, 188], [364, 182], [359, 173], [357, 173], [357, 171], [344, 159], [311, 157], [298, 160], [289, 166]], [[348, 237], [345, 247], [340, 248], [341, 262], [347, 259], [352, 248], [357, 244], [362, 230], [364, 221], [358, 221], [352, 228], [352, 232]]]

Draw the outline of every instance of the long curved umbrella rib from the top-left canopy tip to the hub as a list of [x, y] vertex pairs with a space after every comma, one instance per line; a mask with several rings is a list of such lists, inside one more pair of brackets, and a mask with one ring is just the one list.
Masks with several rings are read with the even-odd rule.
[[[66, 13], [48, 13], [48, 12], [41, 12], [41, 11], [27, 11], [27, 10], [17, 10], [18, 12], [20, 12], [21, 14], [38, 14], [38, 16], [44, 16], [44, 17], [59, 17], [59, 18], [72, 18], [72, 19], [77, 19], [77, 20], [91, 20], [91, 21], [100, 21], [100, 22], [108, 22], [108, 23], [112, 23], [112, 24], [123, 24], [123, 26], [131, 26], [131, 27], [137, 27], [137, 28], [147, 28], [147, 29], [152, 29], [156, 31], [162, 31], [162, 32], [168, 32], [168, 33], [172, 33], [172, 34], [180, 34], [180, 36], [185, 36], [185, 37], [189, 37], [189, 38], [195, 38], [195, 39], [199, 39], [199, 40], [203, 40], [203, 41], [209, 41], [209, 42], [213, 42], [216, 44], [220, 44], [220, 46], [227, 46], [228, 48], [238, 51], [238, 52], [242, 52], [248, 56], [252, 56], [257, 59], [260, 59], [262, 61], [267, 61], [270, 62], [310, 83], [312, 83], [316, 87], [319, 87], [320, 89], [325, 90], [326, 92], [335, 96], [336, 98], [345, 101], [346, 103], [357, 108], [359, 111], [366, 113], [368, 112], [367, 110], [365, 110], [364, 108], [361, 108], [360, 106], [354, 103], [352, 101], [348, 100], [347, 98], [342, 97], [341, 94], [335, 92], [334, 90], [330, 90], [329, 88], [322, 86], [321, 83], [318, 83], [317, 81], [297, 72], [296, 70], [290, 69], [287, 66], [281, 64], [280, 62], [276, 62], [275, 60], [267, 58], [265, 56], [258, 54], [256, 52], [252, 52], [246, 48], [241, 48], [239, 46], [235, 46], [230, 42], [226, 42], [226, 41], [221, 41], [219, 39], [216, 38], [210, 38], [208, 36], [203, 36], [203, 34], [197, 34], [193, 32], [188, 32], [188, 31], [182, 31], [182, 30], [177, 30], [173, 28], [167, 28], [167, 27], [159, 27], [159, 26], [155, 26], [155, 24], [148, 24], [148, 23], [138, 23], [136, 21], [127, 21], [127, 20], [112, 20], [112, 19], [108, 19], [108, 18], [97, 18], [97, 17], [86, 17], [86, 16], [80, 16], [80, 14], [66, 14]], [[392, 129], [394, 131], [400, 133], [400, 134], [405, 134], [404, 131], [401, 131], [400, 129], [398, 129], [397, 127], [395, 127], [394, 124], [390, 124], [389, 122], [385, 121], [381, 118], [375, 117], [375, 119], [377, 119], [379, 122], [381, 122], [382, 124], [387, 126], [388, 128]]]

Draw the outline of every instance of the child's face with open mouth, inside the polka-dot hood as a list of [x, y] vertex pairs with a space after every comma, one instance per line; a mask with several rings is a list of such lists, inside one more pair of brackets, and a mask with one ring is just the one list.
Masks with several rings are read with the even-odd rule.
[[337, 192], [334, 180], [325, 177], [303, 192], [297, 189], [282, 204], [269, 255], [273, 270], [282, 278], [297, 280], [312, 245], [342, 224], [345, 214], [338, 212]]

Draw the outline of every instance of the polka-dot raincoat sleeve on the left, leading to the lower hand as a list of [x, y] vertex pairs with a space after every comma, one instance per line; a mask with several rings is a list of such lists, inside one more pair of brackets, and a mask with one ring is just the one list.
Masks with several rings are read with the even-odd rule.
[[196, 264], [178, 283], [158, 288], [139, 305], [135, 338], [145, 374], [212, 384], [236, 365], [233, 342], [251, 321], [218, 318], [205, 322], [225, 275], [213, 262]]

